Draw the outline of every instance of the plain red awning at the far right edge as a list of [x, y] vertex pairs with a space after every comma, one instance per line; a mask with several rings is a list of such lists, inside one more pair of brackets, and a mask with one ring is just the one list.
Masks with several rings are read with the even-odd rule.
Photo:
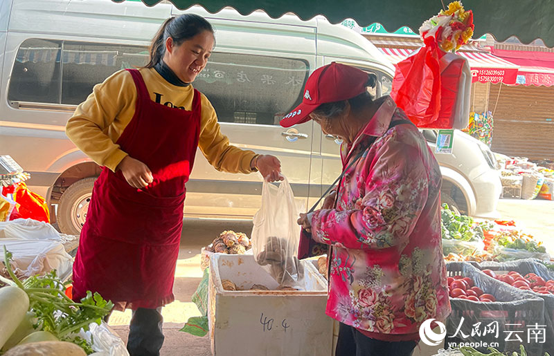
[[494, 48], [492, 53], [519, 66], [517, 84], [554, 86], [554, 53]]

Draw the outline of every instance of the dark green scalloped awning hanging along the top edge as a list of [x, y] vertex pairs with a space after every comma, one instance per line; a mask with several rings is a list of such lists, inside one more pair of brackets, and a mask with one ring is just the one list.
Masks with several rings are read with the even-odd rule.
[[[115, 0], [123, 1], [123, 0]], [[143, 0], [149, 6], [161, 0]], [[354, 19], [360, 26], [375, 22], [383, 24], [388, 32], [408, 26], [418, 32], [423, 21], [436, 15], [441, 10], [441, 1], [413, 0], [170, 0], [183, 10], [195, 4], [204, 6], [209, 12], [218, 12], [225, 6], [231, 6], [242, 15], [254, 10], [265, 10], [273, 18], [281, 17], [287, 12], [294, 12], [301, 19], [312, 19], [323, 15], [333, 24], [344, 19]], [[447, 1], [444, 1], [447, 5]], [[99, 2], [101, 4], [101, 1]], [[551, 0], [463, 0], [466, 9], [473, 10], [474, 38], [490, 33], [498, 41], [517, 36], [521, 42], [528, 44], [537, 37], [544, 40], [546, 46], [554, 46], [554, 1]], [[101, 6], [101, 5], [98, 5]]]

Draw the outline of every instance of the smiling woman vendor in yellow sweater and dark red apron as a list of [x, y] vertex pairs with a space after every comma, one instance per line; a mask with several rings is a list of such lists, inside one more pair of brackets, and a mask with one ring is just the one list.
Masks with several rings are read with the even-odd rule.
[[67, 122], [67, 136], [103, 167], [75, 257], [73, 299], [90, 290], [132, 309], [132, 356], [159, 355], [163, 344], [160, 311], [174, 300], [185, 183], [197, 147], [217, 170], [280, 179], [276, 157], [229, 144], [213, 106], [191, 85], [214, 44], [203, 17], [166, 20], [150, 62], [94, 86]]

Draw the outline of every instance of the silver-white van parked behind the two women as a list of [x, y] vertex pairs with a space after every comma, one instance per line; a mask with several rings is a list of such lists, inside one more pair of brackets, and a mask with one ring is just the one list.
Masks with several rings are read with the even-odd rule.
[[[336, 61], [375, 73], [377, 97], [391, 91], [394, 67], [367, 39], [323, 17], [186, 11], [216, 28], [215, 52], [193, 85], [213, 103], [222, 132], [238, 147], [278, 156], [308, 207], [341, 171], [339, 142], [313, 122], [283, 129], [278, 121], [301, 101], [319, 66]], [[62, 232], [80, 231], [100, 171], [66, 138], [66, 121], [94, 84], [145, 64], [161, 22], [183, 12], [140, 1], [0, 1], [0, 153], [31, 174], [30, 189], [57, 208], [52, 216]], [[426, 135], [434, 139], [433, 131]], [[501, 188], [488, 149], [456, 133], [454, 153], [437, 158], [445, 201], [472, 215], [494, 214]], [[221, 173], [198, 158], [187, 191], [187, 216], [251, 218], [260, 207], [261, 178]]]

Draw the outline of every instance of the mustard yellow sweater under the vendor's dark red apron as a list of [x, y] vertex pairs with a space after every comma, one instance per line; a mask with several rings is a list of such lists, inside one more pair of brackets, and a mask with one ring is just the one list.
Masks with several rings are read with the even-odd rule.
[[[154, 68], [139, 70], [150, 99], [164, 105], [190, 110], [193, 106], [193, 86], [175, 86], [163, 79]], [[133, 118], [136, 105], [136, 86], [127, 71], [118, 71], [103, 83], [96, 84], [87, 100], [82, 102], [66, 124], [66, 135], [87, 156], [100, 166], [115, 171], [127, 156], [117, 142]], [[199, 147], [218, 171], [250, 173], [255, 155], [229, 144], [220, 131], [217, 115], [208, 98], [202, 97]]]

